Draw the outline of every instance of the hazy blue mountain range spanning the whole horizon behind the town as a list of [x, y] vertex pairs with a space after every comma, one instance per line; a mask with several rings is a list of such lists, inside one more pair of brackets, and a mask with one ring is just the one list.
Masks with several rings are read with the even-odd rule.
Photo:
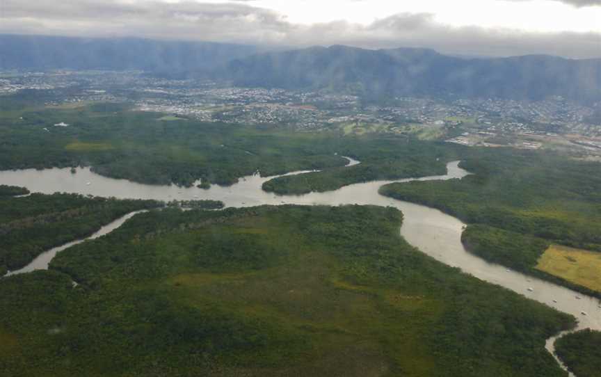
[[454, 96], [601, 101], [601, 59], [461, 58], [431, 49], [258, 47], [136, 38], [0, 35], [0, 69], [144, 70], [234, 86], [330, 90], [364, 97]]

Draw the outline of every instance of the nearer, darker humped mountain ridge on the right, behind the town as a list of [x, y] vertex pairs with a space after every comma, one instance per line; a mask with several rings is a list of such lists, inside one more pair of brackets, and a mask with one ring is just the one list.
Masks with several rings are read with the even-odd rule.
[[364, 95], [436, 95], [601, 100], [601, 60], [554, 56], [465, 59], [428, 49], [312, 47], [237, 59], [238, 86], [330, 88]]

